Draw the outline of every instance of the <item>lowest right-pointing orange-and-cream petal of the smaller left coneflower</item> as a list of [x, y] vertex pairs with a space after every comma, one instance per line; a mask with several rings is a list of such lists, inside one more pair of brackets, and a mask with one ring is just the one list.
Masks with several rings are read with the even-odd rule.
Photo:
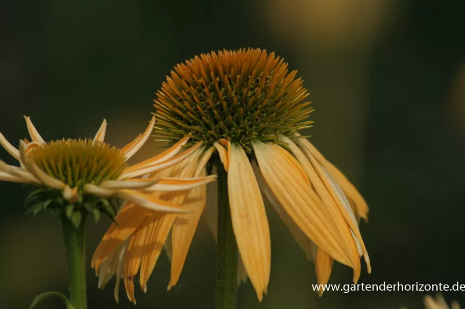
[[127, 200], [142, 207], [164, 212], [188, 212], [181, 206], [163, 200], [155, 199], [152, 195], [141, 193], [135, 190], [121, 189], [117, 191], [121, 199]]

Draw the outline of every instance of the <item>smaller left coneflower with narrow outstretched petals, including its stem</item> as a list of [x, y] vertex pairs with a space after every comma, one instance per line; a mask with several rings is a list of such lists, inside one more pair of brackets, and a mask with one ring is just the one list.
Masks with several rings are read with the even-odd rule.
[[101, 214], [105, 213], [114, 220], [117, 200], [127, 201], [133, 208], [167, 213], [187, 212], [180, 205], [154, 198], [151, 192], [194, 188], [213, 181], [214, 176], [196, 179], [142, 177], [185, 160], [201, 147], [201, 142], [182, 154], [177, 154], [181, 143], [156, 157], [129, 166], [128, 159], [152, 133], [155, 117], [143, 134], [121, 149], [104, 143], [105, 120], [93, 139], [45, 142], [31, 119], [25, 119], [32, 142], [27, 139], [20, 141], [19, 150], [0, 133], [0, 145], [20, 163], [20, 166], [12, 166], [0, 160], [0, 180], [32, 187], [26, 201], [32, 205], [30, 213], [51, 210], [61, 217], [70, 293], [70, 300], [56, 292], [41, 294], [33, 301], [31, 308], [48, 296], [59, 295], [68, 308], [83, 309], [86, 307], [86, 218], [93, 216], [95, 221], [99, 221]]

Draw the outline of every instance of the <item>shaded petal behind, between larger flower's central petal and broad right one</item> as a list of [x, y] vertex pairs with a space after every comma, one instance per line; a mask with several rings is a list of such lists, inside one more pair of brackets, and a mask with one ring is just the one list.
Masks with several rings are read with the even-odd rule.
[[266, 197], [268, 202], [270, 202], [271, 206], [276, 211], [281, 220], [284, 222], [284, 224], [286, 224], [287, 228], [289, 229], [289, 232], [291, 233], [292, 237], [296, 240], [297, 244], [304, 251], [307, 259], [309, 261], [312, 261], [313, 255], [316, 254], [315, 244], [307, 237], [307, 235], [304, 234], [304, 232], [302, 232], [301, 229], [299, 229], [296, 223], [284, 211], [282, 206], [279, 204], [278, 199], [276, 199], [275, 194], [273, 194], [272, 190], [265, 182], [263, 175], [258, 169], [258, 166], [256, 166], [255, 164], [252, 164], [252, 166], [254, 167], [255, 177], [257, 178], [260, 191]]

